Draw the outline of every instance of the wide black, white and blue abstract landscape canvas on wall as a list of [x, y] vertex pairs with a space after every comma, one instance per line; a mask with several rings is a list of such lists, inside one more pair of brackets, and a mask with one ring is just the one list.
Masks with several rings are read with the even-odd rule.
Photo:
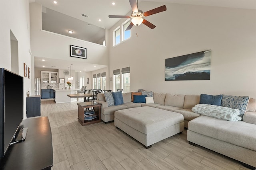
[[210, 80], [211, 50], [165, 59], [165, 80]]

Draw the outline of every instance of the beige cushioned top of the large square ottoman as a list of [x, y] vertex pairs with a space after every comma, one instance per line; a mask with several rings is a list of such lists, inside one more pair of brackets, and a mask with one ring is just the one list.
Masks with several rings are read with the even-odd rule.
[[115, 112], [115, 118], [126, 125], [148, 134], [181, 123], [181, 114], [152, 107], [138, 107]]

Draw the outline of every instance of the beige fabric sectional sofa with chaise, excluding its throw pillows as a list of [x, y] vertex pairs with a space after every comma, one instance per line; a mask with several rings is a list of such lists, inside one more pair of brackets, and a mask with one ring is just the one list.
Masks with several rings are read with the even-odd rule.
[[101, 119], [114, 120], [114, 112], [120, 109], [150, 106], [180, 113], [184, 127], [188, 128], [188, 141], [214, 150], [236, 160], [251, 169], [256, 167], [256, 100], [250, 98], [243, 121], [226, 121], [194, 113], [192, 107], [200, 102], [200, 95], [153, 93], [154, 104], [133, 103], [132, 93], [122, 93], [124, 104], [108, 107], [104, 94], [98, 94], [102, 104]]

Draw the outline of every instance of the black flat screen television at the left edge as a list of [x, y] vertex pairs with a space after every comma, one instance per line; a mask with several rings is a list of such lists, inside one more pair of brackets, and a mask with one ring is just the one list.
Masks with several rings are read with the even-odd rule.
[[16, 140], [23, 120], [23, 77], [0, 68], [0, 158]]

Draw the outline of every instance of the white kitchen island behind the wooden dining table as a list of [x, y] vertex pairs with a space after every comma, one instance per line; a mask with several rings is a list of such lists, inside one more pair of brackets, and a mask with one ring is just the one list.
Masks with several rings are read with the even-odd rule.
[[77, 94], [77, 90], [80, 89], [55, 89], [55, 102], [56, 103], [66, 103], [66, 102], [75, 102], [76, 98], [68, 97], [68, 94]]

